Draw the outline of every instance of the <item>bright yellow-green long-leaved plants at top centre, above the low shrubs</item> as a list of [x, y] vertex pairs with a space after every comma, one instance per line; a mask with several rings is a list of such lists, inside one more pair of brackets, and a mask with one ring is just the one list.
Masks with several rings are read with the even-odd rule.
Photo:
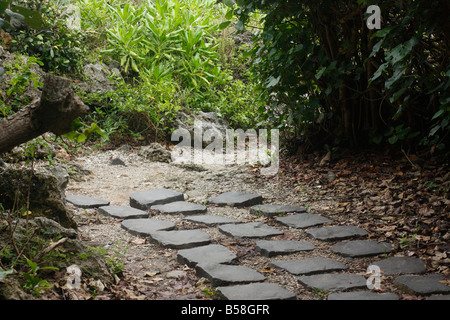
[[[225, 80], [214, 34], [219, 9], [211, 0], [145, 0], [139, 7], [108, 5], [114, 25], [103, 52], [120, 61], [125, 73], [164, 69], [182, 85], [198, 88]], [[151, 74], [151, 72], [150, 72]]]

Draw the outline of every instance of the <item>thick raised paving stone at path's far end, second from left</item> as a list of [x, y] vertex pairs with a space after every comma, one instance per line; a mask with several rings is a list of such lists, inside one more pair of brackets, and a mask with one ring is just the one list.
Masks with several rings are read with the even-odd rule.
[[137, 191], [130, 195], [130, 206], [142, 210], [149, 210], [154, 205], [174, 201], [184, 201], [184, 195], [169, 189]]

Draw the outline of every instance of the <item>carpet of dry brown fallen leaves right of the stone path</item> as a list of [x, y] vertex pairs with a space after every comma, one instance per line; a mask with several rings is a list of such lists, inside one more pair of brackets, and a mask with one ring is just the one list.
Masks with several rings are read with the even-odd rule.
[[376, 153], [342, 153], [322, 166], [320, 159], [287, 158], [280, 179], [310, 203], [327, 200], [317, 209], [335, 221], [358, 223], [371, 238], [422, 258], [429, 271], [450, 275], [448, 163]]

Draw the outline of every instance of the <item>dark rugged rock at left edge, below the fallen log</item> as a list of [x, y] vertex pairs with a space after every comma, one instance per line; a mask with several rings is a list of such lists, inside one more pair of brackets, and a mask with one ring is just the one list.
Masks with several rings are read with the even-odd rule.
[[5, 209], [24, 208], [29, 193], [29, 216], [44, 216], [66, 228], [76, 228], [66, 205], [67, 172], [56, 168], [0, 168], [0, 199]]

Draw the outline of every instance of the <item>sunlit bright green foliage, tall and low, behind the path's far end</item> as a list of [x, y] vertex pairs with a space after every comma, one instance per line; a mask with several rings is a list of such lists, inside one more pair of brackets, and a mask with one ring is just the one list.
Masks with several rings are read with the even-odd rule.
[[114, 91], [84, 97], [92, 112], [82, 123], [97, 123], [106, 137], [145, 140], [170, 133], [182, 108], [216, 111], [238, 127], [256, 124], [254, 85], [233, 70], [242, 68], [239, 53], [222, 34], [229, 25], [222, 23], [225, 7], [212, 0], [78, 3], [87, 17], [83, 28], [102, 21], [101, 55], [118, 61], [125, 75], [115, 79]]

